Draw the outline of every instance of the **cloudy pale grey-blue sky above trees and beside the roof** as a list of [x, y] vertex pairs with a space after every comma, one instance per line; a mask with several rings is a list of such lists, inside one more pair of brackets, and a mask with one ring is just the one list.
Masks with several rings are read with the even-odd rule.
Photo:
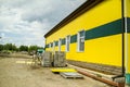
[[44, 35], [86, 0], [0, 0], [0, 44], [44, 47]]

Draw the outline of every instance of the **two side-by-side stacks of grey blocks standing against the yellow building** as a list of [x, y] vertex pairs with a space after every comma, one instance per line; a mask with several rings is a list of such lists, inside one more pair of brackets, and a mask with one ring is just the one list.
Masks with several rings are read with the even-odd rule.
[[66, 58], [66, 53], [63, 51], [55, 51], [55, 53], [46, 51], [42, 54], [41, 65], [42, 66], [64, 67], [64, 66], [66, 66], [65, 58]]

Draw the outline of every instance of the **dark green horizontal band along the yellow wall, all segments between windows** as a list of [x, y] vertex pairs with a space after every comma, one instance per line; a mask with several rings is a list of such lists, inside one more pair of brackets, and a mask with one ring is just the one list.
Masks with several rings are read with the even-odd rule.
[[[130, 17], [127, 18], [128, 25], [130, 25]], [[102, 26], [86, 30], [86, 37], [84, 40], [101, 38], [101, 37], [107, 37], [112, 35], [121, 34], [121, 18], [116, 20], [114, 22], [104, 24]], [[128, 26], [128, 33], [130, 33], [130, 26]], [[70, 44], [77, 42], [77, 34], [70, 36]], [[65, 38], [62, 39], [62, 45], [65, 45]], [[58, 41], [55, 41], [55, 46], [58, 46]], [[49, 46], [48, 46], [49, 47]]]

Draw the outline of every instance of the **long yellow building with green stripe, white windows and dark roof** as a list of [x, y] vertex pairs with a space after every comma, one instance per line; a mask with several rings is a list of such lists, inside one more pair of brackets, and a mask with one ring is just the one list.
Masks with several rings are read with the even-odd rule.
[[66, 51], [68, 63], [130, 83], [130, 0], [87, 0], [44, 37], [46, 50]]

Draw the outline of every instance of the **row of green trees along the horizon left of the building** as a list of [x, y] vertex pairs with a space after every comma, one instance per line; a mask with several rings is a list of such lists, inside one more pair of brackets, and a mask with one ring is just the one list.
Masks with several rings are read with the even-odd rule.
[[27, 52], [31, 52], [31, 51], [37, 51], [38, 49], [43, 49], [43, 47], [39, 47], [39, 46], [20, 46], [16, 47], [13, 44], [5, 44], [5, 45], [0, 45], [0, 51], [16, 51], [16, 52], [21, 52], [21, 51], [27, 51]]

